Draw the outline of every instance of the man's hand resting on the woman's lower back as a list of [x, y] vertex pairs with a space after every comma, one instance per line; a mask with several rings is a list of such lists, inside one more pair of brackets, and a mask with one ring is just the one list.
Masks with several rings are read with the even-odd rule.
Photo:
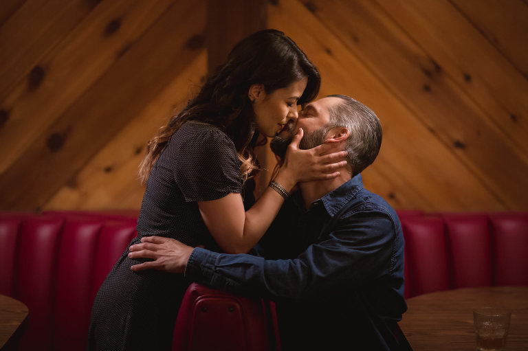
[[175, 239], [162, 236], [144, 236], [141, 244], [129, 248], [129, 258], [152, 258], [153, 261], [134, 264], [132, 271], [159, 269], [169, 273], [184, 273], [193, 247], [187, 246]]

